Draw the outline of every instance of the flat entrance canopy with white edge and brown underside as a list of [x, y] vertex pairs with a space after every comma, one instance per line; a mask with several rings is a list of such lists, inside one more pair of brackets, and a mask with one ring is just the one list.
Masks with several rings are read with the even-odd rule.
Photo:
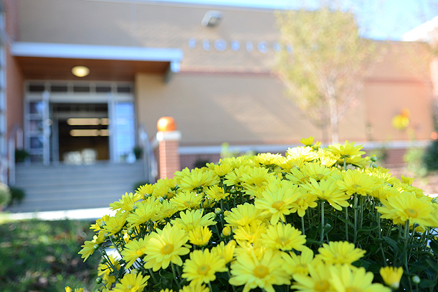
[[[91, 44], [14, 42], [15, 56], [25, 79], [133, 81], [136, 73], [179, 72], [181, 49], [115, 47]], [[76, 77], [74, 66], [86, 66], [90, 74]]]

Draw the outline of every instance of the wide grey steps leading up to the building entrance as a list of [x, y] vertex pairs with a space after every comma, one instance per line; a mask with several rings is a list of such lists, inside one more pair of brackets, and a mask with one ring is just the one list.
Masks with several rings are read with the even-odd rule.
[[15, 186], [26, 196], [5, 211], [104, 208], [144, 181], [143, 161], [92, 165], [17, 165]]

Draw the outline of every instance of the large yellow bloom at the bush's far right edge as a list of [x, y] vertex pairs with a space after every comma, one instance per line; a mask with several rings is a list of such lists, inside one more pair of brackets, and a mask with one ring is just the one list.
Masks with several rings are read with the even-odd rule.
[[377, 206], [376, 209], [382, 214], [382, 218], [391, 219], [396, 225], [406, 220], [421, 227], [431, 223], [433, 207], [428, 197], [418, 198], [414, 193], [403, 192], [398, 196], [388, 197], [387, 200], [382, 199], [381, 202], [384, 206]]

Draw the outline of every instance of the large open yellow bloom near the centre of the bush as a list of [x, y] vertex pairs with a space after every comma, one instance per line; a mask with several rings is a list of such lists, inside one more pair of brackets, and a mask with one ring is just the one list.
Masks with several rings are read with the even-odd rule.
[[300, 191], [298, 186], [290, 181], [282, 181], [281, 186], [271, 186], [263, 191], [261, 198], [254, 200], [254, 206], [272, 215], [270, 224], [275, 224], [279, 220], [284, 222], [284, 216], [291, 213], [292, 204], [300, 196]]

